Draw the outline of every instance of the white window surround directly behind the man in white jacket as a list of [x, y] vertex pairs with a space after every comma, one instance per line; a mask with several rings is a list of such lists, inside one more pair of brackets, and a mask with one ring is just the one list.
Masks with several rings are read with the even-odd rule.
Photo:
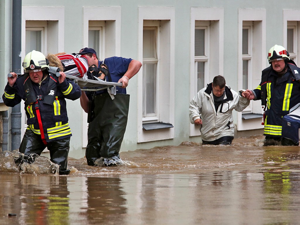
[[[208, 61], [205, 66], [205, 85], [210, 83], [214, 76], [223, 75], [224, 55], [224, 9], [191, 7], [190, 17], [190, 100], [197, 94], [196, 65], [195, 65], [195, 28], [196, 26], [209, 26], [209, 35], [206, 38], [205, 54]], [[187, 115], [188, 116], [188, 115]], [[200, 136], [199, 126], [190, 124], [189, 136]]]

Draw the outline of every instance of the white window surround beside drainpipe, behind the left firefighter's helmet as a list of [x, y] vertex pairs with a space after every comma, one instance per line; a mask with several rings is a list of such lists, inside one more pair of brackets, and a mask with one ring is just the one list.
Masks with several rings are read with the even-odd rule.
[[[44, 55], [48, 52], [64, 51], [64, 32], [61, 32], [64, 31], [64, 7], [22, 6], [21, 68], [25, 55], [28, 53], [25, 51], [26, 21], [29, 30], [44, 28], [41, 37], [41, 51]], [[45, 23], [47, 26], [44, 26]], [[56, 24], [51, 26], [54, 23]], [[60, 31], [59, 34], [58, 31]], [[21, 121], [26, 125], [27, 118], [24, 107], [21, 107]], [[25, 129], [21, 129], [21, 138], [24, 134]]]

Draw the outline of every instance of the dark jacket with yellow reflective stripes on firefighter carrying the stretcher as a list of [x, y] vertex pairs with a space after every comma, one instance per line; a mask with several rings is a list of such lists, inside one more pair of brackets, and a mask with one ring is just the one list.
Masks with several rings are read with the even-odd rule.
[[8, 107], [14, 107], [23, 99], [25, 101], [27, 129], [31, 129], [35, 134], [41, 134], [35, 110], [36, 104], [34, 103], [38, 101], [45, 140], [52, 142], [72, 136], [65, 98], [76, 100], [80, 96], [79, 86], [71, 80], [65, 79], [60, 84], [58, 77], [49, 73], [40, 86], [31, 81], [29, 73], [25, 73], [16, 79], [13, 87], [7, 83], [2, 98]]

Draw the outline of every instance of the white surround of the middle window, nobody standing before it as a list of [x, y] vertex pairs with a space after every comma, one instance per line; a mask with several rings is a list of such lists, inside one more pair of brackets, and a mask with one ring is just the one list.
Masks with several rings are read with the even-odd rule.
[[[158, 58], [160, 66], [158, 71], [159, 79], [159, 122], [175, 122], [175, 8], [174, 7], [138, 7], [138, 60], [143, 61], [143, 27], [144, 21], [160, 20], [160, 35], [158, 44], [164, 51], [160, 51]], [[158, 46], [158, 48], [159, 48]], [[142, 70], [143, 68], [141, 68]], [[143, 75], [139, 74], [137, 94], [137, 142], [149, 142], [156, 140], [167, 140], [174, 138], [174, 128], [158, 130], [143, 130]]]

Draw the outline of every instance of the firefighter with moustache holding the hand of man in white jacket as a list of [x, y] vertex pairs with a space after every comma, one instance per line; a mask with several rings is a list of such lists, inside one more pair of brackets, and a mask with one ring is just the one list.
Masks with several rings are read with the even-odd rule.
[[283, 46], [274, 45], [268, 52], [270, 67], [262, 71], [262, 79], [254, 90], [246, 90], [242, 95], [250, 100], [261, 100], [264, 106], [264, 146], [299, 145], [282, 137], [282, 118], [300, 102], [300, 68], [289, 58]]

